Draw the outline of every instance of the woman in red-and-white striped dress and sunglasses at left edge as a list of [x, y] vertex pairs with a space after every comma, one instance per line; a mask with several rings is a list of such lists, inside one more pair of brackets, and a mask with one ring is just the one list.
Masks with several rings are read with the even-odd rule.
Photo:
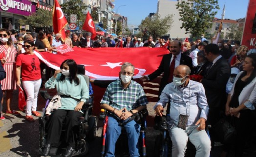
[[[12, 92], [16, 90], [16, 65], [17, 51], [12, 43], [10, 32], [0, 29], [0, 60], [6, 72], [6, 78], [1, 80], [2, 90], [6, 95], [6, 114], [20, 115], [19, 112], [10, 109]], [[3, 104], [3, 98], [2, 98]]]

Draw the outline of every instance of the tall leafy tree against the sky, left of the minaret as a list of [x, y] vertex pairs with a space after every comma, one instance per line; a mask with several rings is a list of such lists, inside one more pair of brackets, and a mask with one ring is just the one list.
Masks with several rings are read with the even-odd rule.
[[200, 37], [212, 27], [212, 20], [219, 9], [218, 0], [179, 0], [176, 4], [186, 34], [191, 33], [192, 38]]

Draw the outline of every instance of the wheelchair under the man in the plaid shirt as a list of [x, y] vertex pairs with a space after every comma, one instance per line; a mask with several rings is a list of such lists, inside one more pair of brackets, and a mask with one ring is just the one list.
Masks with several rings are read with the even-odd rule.
[[[106, 110], [101, 109], [99, 119], [104, 120], [104, 125], [103, 125], [103, 129], [102, 129], [101, 157], [105, 157], [105, 154], [106, 154], [105, 148], [107, 147], [107, 145], [105, 144], [105, 141], [107, 139], [107, 120], [108, 120], [107, 114], [108, 114], [108, 112]], [[146, 117], [148, 115], [149, 115], [149, 112], [147, 109], [145, 109], [145, 110], [135, 113], [131, 117], [132, 120], [134, 119], [137, 123], [139, 123], [141, 125], [140, 137], [139, 137], [139, 141], [138, 141], [140, 157], [147, 157], [147, 154], [146, 154], [146, 129], [147, 129]], [[120, 126], [122, 127], [122, 124]], [[127, 141], [128, 141], [128, 137], [127, 137], [126, 130], [124, 127], [122, 127], [121, 135], [116, 142], [115, 157], [130, 157]]]

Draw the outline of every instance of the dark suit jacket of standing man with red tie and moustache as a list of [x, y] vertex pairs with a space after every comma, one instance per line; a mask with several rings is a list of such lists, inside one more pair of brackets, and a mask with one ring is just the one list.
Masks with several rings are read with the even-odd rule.
[[[164, 55], [158, 69], [155, 70], [152, 74], [150, 74], [148, 76], [149, 80], [152, 80], [152, 79], [158, 77], [160, 74], [164, 73], [164, 76], [160, 82], [159, 96], [161, 95], [164, 87], [168, 84], [168, 79], [170, 76], [169, 68], [170, 68], [170, 64], [171, 64], [171, 56], [172, 56], [172, 54]], [[181, 54], [180, 65], [181, 64], [188, 65], [192, 69], [192, 59], [189, 56]]]

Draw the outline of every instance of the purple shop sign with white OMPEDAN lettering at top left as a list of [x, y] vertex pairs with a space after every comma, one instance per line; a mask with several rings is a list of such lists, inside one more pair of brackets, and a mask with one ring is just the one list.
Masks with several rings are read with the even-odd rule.
[[36, 12], [36, 5], [28, 0], [0, 0], [0, 8], [3, 11], [29, 16]]

